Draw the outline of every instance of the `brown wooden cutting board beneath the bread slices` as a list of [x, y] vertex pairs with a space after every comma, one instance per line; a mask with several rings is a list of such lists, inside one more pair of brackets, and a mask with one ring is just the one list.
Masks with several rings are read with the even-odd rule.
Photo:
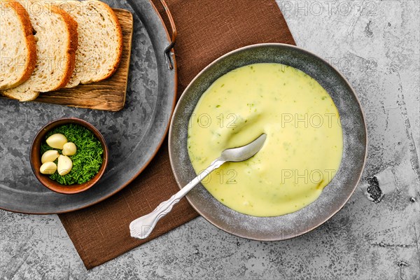
[[123, 31], [123, 55], [116, 73], [101, 82], [41, 93], [34, 100], [35, 102], [106, 111], [120, 111], [124, 108], [130, 67], [133, 16], [128, 10], [113, 8], [113, 11]]

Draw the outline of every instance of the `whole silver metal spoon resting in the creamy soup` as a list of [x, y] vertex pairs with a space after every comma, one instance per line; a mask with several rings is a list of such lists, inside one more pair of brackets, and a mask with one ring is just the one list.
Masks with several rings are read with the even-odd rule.
[[190, 183], [179, 190], [178, 193], [172, 195], [169, 200], [159, 204], [159, 206], [156, 207], [156, 209], [150, 214], [132, 221], [130, 223], [131, 236], [139, 239], [145, 239], [148, 237], [160, 218], [165, 217], [166, 214], [172, 210], [172, 207], [174, 207], [174, 205], [178, 203], [179, 200], [181, 200], [181, 198], [183, 198], [190, 190], [197, 186], [202, 179], [206, 178], [206, 176], [214, 171], [214, 169], [221, 167], [221, 165], [225, 162], [242, 162], [244, 160], [248, 160], [248, 158], [251, 158], [255, 155], [255, 153], [260, 151], [260, 148], [262, 147], [262, 144], [264, 144], [266, 138], [266, 134], [261, 134], [260, 137], [245, 146], [241, 146], [239, 148], [228, 148], [223, 151], [221, 156], [216, 158], [214, 162], [211, 162], [211, 165], [207, 167], [207, 169], [204, 169], [203, 172], [198, 174], [193, 181], [190, 181]]

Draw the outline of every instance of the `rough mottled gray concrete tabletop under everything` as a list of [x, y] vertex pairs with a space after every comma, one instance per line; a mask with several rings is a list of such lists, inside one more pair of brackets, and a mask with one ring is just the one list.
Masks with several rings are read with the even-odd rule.
[[[0, 278], [420, 279], [420, 2], [278, 3], [297, 45], [337, 66], [365, 109], [367, 165], [342, 211], [278, 242], [197, 218], [90, 271], [57, 216], [0, 211]], [[377, 203], [365, 194], [373, 185], [385, 193]]]

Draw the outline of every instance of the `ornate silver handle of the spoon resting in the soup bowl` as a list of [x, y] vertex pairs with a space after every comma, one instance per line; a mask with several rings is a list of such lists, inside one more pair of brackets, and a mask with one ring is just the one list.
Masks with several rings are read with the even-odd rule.
[[211, 162], [209, 167], [204, 169], [203, 172], [198, 174], [197, 177], [190, 181], [190, 183], [188, 183], [185, 187], [181, 188], [178, 193], [172, 195], [169, 200], [159, 204], [153, 212], [132, 221], [130, 223], [130, 235], [139, 239], [145, 239], [148, 237], [153, 231], [153, 228], [155, 228], [156, 223], [158, 223], [161, 218], [165, 217], [172, 210], [172, 207], [181, 200], [181, 198], [186, 196], [190, 190], [197, 186], [197, 184], [214, 171], [214, 169], [221, 167], [223, 163], [225, 163], [225, 160], [221, 160], [220, 158], [214, 160], [214, 162]]

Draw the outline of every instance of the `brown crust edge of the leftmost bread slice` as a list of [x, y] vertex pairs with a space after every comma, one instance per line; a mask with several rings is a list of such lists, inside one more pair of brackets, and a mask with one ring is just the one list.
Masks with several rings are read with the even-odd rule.
[[21, 83], [24, 83], [29, 77], [34, 73], [35, 65], [36, 65], [36, 42], [33, 32], [33, 27], [31, 24], [31, 20], [29, 18], [29, 14], [27, 10], [20, 5], [20, 3], [10, 0], [10, 1], [1, 1], [2, 3], [9, 3], [10, 8], [15, 10], [16, 15], [18, 15], [20, 22], [22, 23], [23, 31], [25, 34], [26, 45], [28, 50], [28, 57], [25, 63], [25, 72], [23, 73], [22, 77], [17, 80], [12, 85], [7, 85], [5, 87], [0, 87], [0, 90], [6, 90], [8, 88], [17, 87]]

